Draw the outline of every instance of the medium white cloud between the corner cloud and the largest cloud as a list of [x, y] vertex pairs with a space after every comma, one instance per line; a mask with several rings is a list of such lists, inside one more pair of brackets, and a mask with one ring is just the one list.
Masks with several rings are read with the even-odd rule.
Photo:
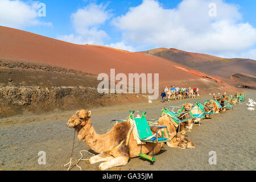
[[106, 10], [107, 5], [90, 4], [84, 9], [79, 9], [71, 15], [75, 34], [62, 35], [57, 39], [76, 44], [102, 44], [108, 38], [105, 31], [100, 30], [101, 24], [112, 16]]

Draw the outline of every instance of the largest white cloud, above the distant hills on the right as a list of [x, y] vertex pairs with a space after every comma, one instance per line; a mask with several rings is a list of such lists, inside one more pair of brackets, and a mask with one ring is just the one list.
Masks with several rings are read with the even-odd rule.
[[[209, 16], [210, 3], [216, 4], [216, 17]], [[222, 0], [183, 0], [175, 9], [144, 0], [112, 23], [123, 32], [123, 40], [133, 44], [213, 55], [244, 52], [256, 43], [256, 29], [241, 22], [238, 9]]]

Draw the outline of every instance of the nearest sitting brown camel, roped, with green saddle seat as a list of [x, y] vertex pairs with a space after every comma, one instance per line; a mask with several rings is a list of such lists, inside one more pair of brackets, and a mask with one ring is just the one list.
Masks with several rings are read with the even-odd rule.
[[[124, 166], [129, 159], [137, 157], [141, 150], [143, 154], [153, 152], [158, 154], [163, 146], [163, 143], [137, 144], [133, 134], [129, 135], [131, 129], [129, 121], [117, 123], [106, 134], [97, 134], [90, 116], [91, 111], [76, 111], [76, 114], [69, 119], [67, 126], [73, 127], [77, 132], [77, 138], [84, 140], [91, 150], [98, 153], [90, 158], [89, 162], [90, 164], [104, 162], [99, 166], [101, 171], [114, 166]], [[152, 151], [152, 144], [154, 144], [154, 151]]]

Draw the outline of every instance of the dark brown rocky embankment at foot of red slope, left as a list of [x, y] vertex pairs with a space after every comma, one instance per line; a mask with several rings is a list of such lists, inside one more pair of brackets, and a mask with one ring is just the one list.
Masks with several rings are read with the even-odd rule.
[[0, 87], [0, 118], [22, 114], [23, 111], [43, 113], [54, 109], [72, 110], [138, 101], [144, 97], [131, 94], [100, 94], [90, 87], [42, 87], [5, 86]]

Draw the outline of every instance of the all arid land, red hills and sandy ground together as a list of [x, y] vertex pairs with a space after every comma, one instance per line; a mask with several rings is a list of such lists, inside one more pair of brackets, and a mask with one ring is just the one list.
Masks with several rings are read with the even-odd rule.
[[[76, 110], [92, 110], [93, 126], [104, 134], [111, 119], [125, 119], [129, 110], [147, 111], [152, 119], [159, 118], [164, 106], [206, 101], [212, 98], [209, 93], [245, 91], [247, 98], [256, 98], [254, 60], [166, 48], [129, 52], [2, 26], [0, 42], [0, 171], [67, 169], [61, 165], [69, 162], [73, 130], [65, 123]], [[164, 103], [159, 97], [150, 104], [148, 94], [98, 93], [98, 74], [110, 75], [113, 68], [115, 75], [158, 73], [159, 95], [173, 85], [199, 88], [200, 96]], [[255, 111], [245, 103], [237, 105], [185, 135], [196, 148], [165, 145], [154, 166], [135, 158], [110, 170], [255, 170], [255, 121]], [[80, 150], [89, 148], [76, 138], [74, 159], [80, 158]], [[46, 165], [38, 164], [39, 151], [46, 152]], [[209, 165], [210, 151], [217, 152], [217, 165]], [[80, 163], [84, 170], [98, 170], [98, 165]]]

